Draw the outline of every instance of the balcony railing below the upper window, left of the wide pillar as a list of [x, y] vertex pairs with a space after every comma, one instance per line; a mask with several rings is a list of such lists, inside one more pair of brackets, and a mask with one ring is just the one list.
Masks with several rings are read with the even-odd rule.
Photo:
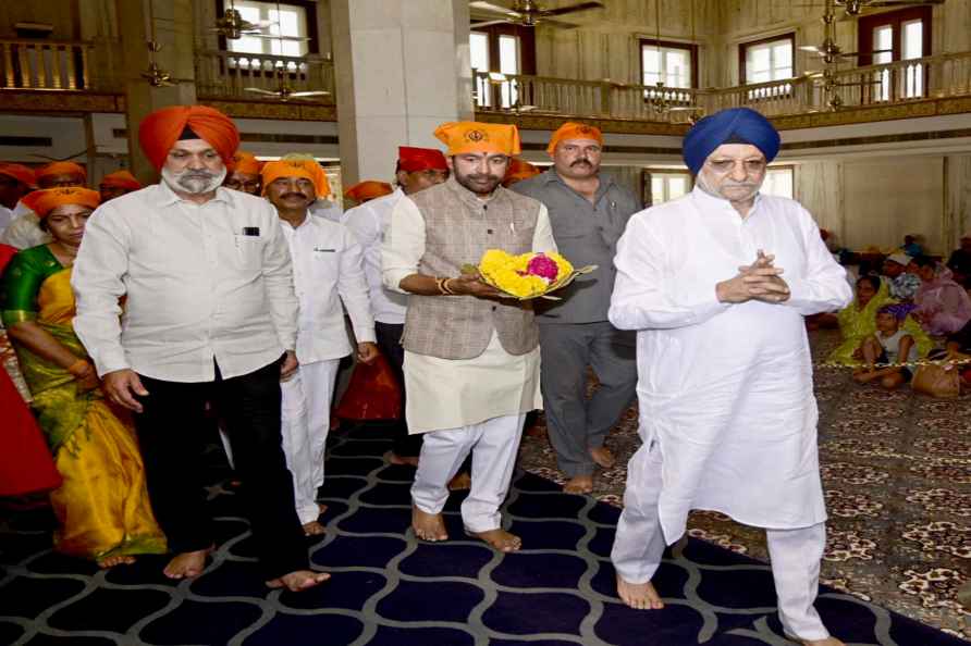
[[196, 52], [196, 91], [219, 99], [266, 99], [285, 84], [293, 91], [325, 90], [315, 101], [334, 102], [333, 63], [317, 55], [282, 57], [204, 50]]

